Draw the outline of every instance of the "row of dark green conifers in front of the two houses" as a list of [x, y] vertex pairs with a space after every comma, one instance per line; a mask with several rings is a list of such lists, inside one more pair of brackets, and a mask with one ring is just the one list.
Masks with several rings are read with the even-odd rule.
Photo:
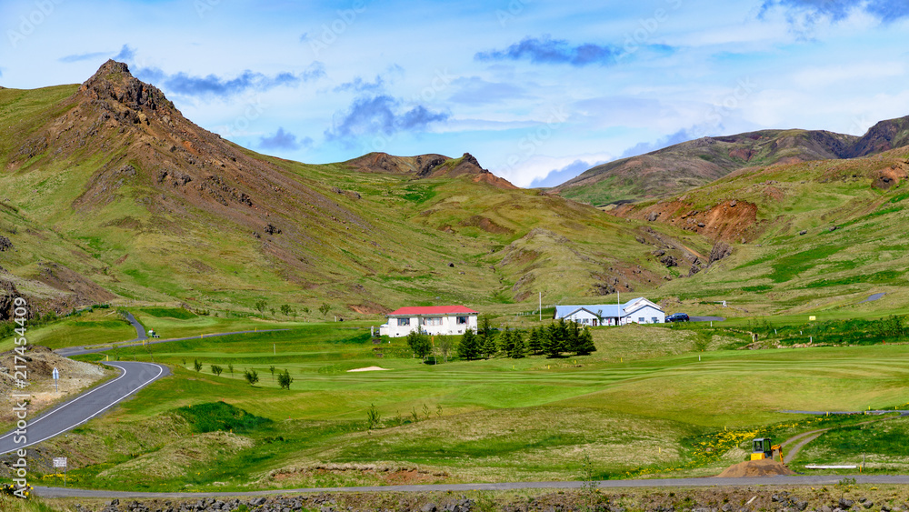
[[[453, 350], [462, 359], [472, 360], [495, 356], [513, 357], [515, 359], [545, 354], [549, 357], [560, 357], [565, 353], [585, 356], [596, 351], [594, 336], [575, 322], [566, 322], [560, 318], [549, 326], [539, 326], [524, 331], [522, 329], [504, 329], [496, 333], [489, 324], [489, 319], [481, 318], [476, 332], [467, 329], [461, 336], [460, 343], [455, 344], [452, 336], [437, 336], [435, 350], [443, 356], [445, 362]], [[434, 352], [433, 342], [428, 335], [411, 332], [407, 335], [407, 346], [418, 357], [425, 358]]]

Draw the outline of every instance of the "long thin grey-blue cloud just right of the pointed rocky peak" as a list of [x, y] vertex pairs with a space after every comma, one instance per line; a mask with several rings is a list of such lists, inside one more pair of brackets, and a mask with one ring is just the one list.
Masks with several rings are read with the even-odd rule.
[[167, 92], [186, 96], [232, 96], [247, 91], [267, 91], [279, 86], [293, 86], [325, 76], [325, 66], [315, 62], [300, 73], [279, 73], [264, 75], [246, 70], [234, 78], [218, 75], [194, 76], [184, 72], [167, 75], [157, 68], [142, 68], [136, 71], [140, 78], [163, 86]]

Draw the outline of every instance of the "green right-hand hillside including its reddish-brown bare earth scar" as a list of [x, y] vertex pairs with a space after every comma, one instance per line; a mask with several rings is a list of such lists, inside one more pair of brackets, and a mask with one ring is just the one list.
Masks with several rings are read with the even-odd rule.
[[[864, 315], [881, 316], [904, 311], [909, 301], [907, 184], [909, 147], [903, 146], [850, 159], [745, 167], [610, 214], [714, 241], [710, 265], [665, 283], [663, 296], [724, 300], [750, 315], [848, 316], [864, 308]], [[885, 295], [862, 302], [872, 294]]]

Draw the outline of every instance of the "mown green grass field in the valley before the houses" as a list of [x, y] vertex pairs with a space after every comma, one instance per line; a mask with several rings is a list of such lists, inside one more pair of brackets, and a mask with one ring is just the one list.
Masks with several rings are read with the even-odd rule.
[[[584, 457], [603, 478], [706, 476], [743, 460], [752, 437], [783, 440], [823, 419], [783, 409], [909, 402], [909, 346], [730, 350], [722, 348], [742, 344], [737, 328], [700, 328], [599, 328], [591, 356], [435, 365], [408, 356], [403, 339], [374, 345], [368, 327], [336, 324], [124, 348], [108, 354], [154, 358], [175, 376], [78, 428], [65, 448], [48, 444], [79, 461], [69, 475], [82, 487], [575, 479]], [[224, 373], [213, 375], [212, 365]], [[270, 366], [289, 371], [290, 390]], [[347, 371], [365, 366], [387, 370]], [[258, 373], [255, 386], [247, 369]], [[226, 423], [200, 431], [185, 407]], [[233, 407], [250, 421], [231, 423], [240, 414]], [[370, 407], [380, 417], [372, 430]], [[824, 425], [857, 420], [831, 421]]]

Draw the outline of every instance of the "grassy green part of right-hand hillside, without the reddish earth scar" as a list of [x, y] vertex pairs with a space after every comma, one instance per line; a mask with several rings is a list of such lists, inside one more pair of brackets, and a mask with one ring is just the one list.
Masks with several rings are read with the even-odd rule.
[[[909, 311], [906, 185], [883, 191], [869, 177], [906, 156], [901, 149], [853, 161], [748, 169], [688, 192], [691, 209], [730, 199], [757, 204], [763, 234], [734, 244], [734, 255], [710, 270], [661, 286], [659, 294], [728, 300], [734, 309], [724, 316], [783, 313], [804, 320], [809, 313], [827, 319]], [[874, 293], [887, 295], [859, 304]]]

